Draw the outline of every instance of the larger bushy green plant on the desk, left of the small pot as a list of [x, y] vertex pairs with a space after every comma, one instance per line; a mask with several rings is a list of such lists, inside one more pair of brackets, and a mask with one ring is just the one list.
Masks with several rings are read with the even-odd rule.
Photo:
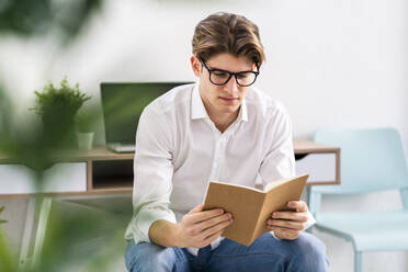
[[75, 117], [82, 104], [91, 97], [84, 94], [77, 83], [71, 87], [67, 78], [60, 82], [60, 88], [48, 82], [42, 91], [35, 91], [35, 106], [44, 125], [48, 145], [53, 147], [72, 147], [75, 143]]

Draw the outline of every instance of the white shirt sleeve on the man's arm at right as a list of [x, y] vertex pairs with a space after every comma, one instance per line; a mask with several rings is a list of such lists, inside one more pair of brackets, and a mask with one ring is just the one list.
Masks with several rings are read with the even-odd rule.
[[[295, 152], [293, 149], [293, 126], [290, 115], [286, 110], [279, 104], [277, 109], [271, 114], [269, 121], [270, 143], [269, 150], [264, 157], [259, 174], [262, 179], [262, 184], [292, 178], [296, 175], [295, 170]], [[306, 228], [309, 228], [316, 223], [316, 219], [310, 212], [307, 213], [308, 219]], [[305, 229], [306, 229], [305, 228]], [[272, 233], [272, 236], [276, 236]]]

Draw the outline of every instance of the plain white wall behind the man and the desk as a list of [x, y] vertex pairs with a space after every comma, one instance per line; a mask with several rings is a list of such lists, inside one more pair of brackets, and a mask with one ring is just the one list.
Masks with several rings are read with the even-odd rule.
[[[407, 1], [109, 0], [102, 11], [65, 49], [52, 36], [0, 36], [0, 77], [20, 109], [30, 106], [33, 90], [45, 80], [57, 83], [64, 76], [80, 82], [94, 102], [101, 81], [194, 80], [189, 57], [195, 24], [212, 12], [229, 11], [259, 25], [268, 61], [257, 86], [287, 106], [296, 137], [327, 126], [394, 126], [408, 147]], [[102, 129], [98, 135], [103, 141]], [[372, 205], [366, 201], [363, 206]], [[400, 205], [389, 195], [384, 201]], [[375, 197], [374, 206], [381, 207]], [[324, 238], [340, 260], [332, 271], [350, 271], [352, 256], [343, 254], [349, 246]], [[408, 270], [403, 258], [381, 263], [404, 253], [378, 254], [385, 257], [364, 260], [370, 271]]]

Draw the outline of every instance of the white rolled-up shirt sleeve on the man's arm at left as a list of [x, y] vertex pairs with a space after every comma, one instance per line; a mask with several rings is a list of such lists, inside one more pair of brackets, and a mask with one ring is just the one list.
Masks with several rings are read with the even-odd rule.
[[171, 131], [163, 116], [147, 107], [140, 115], [136, 133], [134, 216], [128, 227], [136, 245], [150, 242], [149, 228], [154, 222], [177, 222], [169, 208], [172, 174]]

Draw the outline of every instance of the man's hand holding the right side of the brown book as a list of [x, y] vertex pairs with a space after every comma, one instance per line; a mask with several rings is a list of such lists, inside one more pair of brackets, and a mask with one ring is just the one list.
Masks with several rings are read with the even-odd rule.
[[287, 207], [296, 209], [295, 212], [275, 212], [268, 219], [268, 228], [273, 230], [280, 239], [294, 240], [299, 237], [306, 228], [308, 219], [307, 205], [303, 201], [291, 201]]

